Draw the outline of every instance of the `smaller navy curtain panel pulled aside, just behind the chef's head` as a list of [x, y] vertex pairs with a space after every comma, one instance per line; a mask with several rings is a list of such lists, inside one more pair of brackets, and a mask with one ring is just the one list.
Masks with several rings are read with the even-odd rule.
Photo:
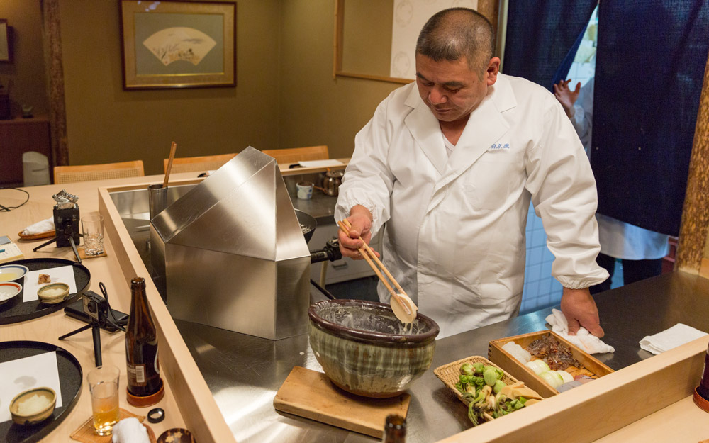
[[[505, 74], [524, 77], [551, 91], [554, 74], [586, 29], [597, 3], [597, 0], [510, 1]], [[569, 61], [561, 74], [565, 75], [570, 66]]]

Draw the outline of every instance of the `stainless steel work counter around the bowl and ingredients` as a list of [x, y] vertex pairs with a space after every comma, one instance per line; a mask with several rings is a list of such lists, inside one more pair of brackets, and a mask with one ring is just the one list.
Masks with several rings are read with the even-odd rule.
[[[311, 298], [321, 299], [313, 291]], [[645, 335], [676, 323], [709, 330], [709, 280], [698, 276], [679, 272], [658, 276], [599, 294], [596, 302], [604, 340], [615, 347], [614, 354], [596, 357], [616, 370], [652, 357], [638, 345]], [[470, 355], [486, 356], [490, 340], [546, 329], [544, 319], [550, 312], [550, 308], [540, 310], [438, 340], [431, 369], [410, 391], [407, 441], [435, 442], [470, 427], [466, 408], [433, 375], [435, 367]], [[274, 395], [293, 366], [321, 370], [307, 335], [273, 342], [180, 320], [175, 323], [238, 442], [377, 441], [274, 410]]]

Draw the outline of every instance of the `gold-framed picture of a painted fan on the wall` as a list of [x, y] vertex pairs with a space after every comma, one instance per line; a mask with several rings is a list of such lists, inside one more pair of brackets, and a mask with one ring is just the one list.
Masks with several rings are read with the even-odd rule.
[[123, 89], [236, 85], [236, 3], [121, 0]]

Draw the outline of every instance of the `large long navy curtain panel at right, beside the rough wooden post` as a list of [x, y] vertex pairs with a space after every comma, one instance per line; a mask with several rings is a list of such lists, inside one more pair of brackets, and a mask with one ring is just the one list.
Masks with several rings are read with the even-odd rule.
[[591, 150], [599, 213], [679, 234], [708, 52], [706, 0], [601, 1]]

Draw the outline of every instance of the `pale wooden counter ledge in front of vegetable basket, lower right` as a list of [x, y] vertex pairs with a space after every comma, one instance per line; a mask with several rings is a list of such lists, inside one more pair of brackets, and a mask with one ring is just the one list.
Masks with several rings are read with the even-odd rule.
[[544, 439], [588, 443], [691, 396], [709, 336], [645, 359], [439, 443]]

